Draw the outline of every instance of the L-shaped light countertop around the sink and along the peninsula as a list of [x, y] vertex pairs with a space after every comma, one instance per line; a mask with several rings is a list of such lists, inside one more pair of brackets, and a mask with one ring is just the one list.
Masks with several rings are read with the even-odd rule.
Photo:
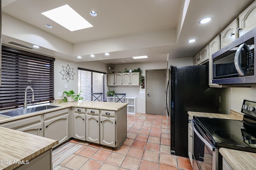
[[[0, 123], [5, 123], [8, 121], [14, 121], [18, 119], [23, 119], [26, 117], [31, 117], [35, 115], [40, 115], [43, 113], [48, 113], [50, 111], [56, 111], [60, 109], [65, 109], [68, 107], [84, 107], [90, 109], [103, 109], [103, 110], [112, 110], [118, 111], [128, 105], [128, 103], [115, 103], [115, 102], [95, 102], [95, 101], [78, 101], [78, 102], [62, 102], [62, 103], [50, 103], [53, 106], [60, 106], [49, 110], [37, 111], [34, 113], [29, 113], [26, 115], [16, 116], [16, 117], [5, 117], [0, 115]], [[29, 107], [29, 106], [28, 106]], [[7, 111], [7, 110], [6, 110]], [[0, 111], [0, 113], [3, 111]]]

